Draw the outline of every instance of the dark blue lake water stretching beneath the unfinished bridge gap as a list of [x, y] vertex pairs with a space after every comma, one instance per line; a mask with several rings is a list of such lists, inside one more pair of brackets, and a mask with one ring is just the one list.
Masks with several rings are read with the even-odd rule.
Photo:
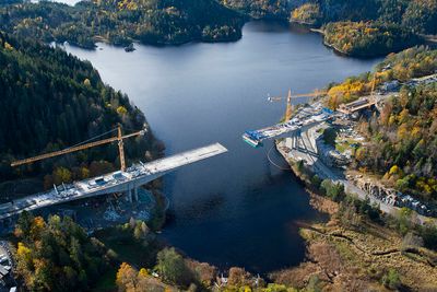
[[[252, 149], [247, 129], [276, 122], [284, 95], [321, 89], [371, 69], [374, 60], [336, 56], [321, 37], [287, 25], [251, 22], [231, 44], [137, 46], [134, 52], [67, 50], [88, 59], [105, 82], [126, 92], [144, 113], [166, 153], [223, 143], [229, 152], [166, 176], [172, 220], [163, 237], [186, 255], [218, 267], [268, 272], [298, 265], [305, 256], [297, 221], [320, 220], [290, 172]], [[277, 154], [273, 159], [285, 162]]]

